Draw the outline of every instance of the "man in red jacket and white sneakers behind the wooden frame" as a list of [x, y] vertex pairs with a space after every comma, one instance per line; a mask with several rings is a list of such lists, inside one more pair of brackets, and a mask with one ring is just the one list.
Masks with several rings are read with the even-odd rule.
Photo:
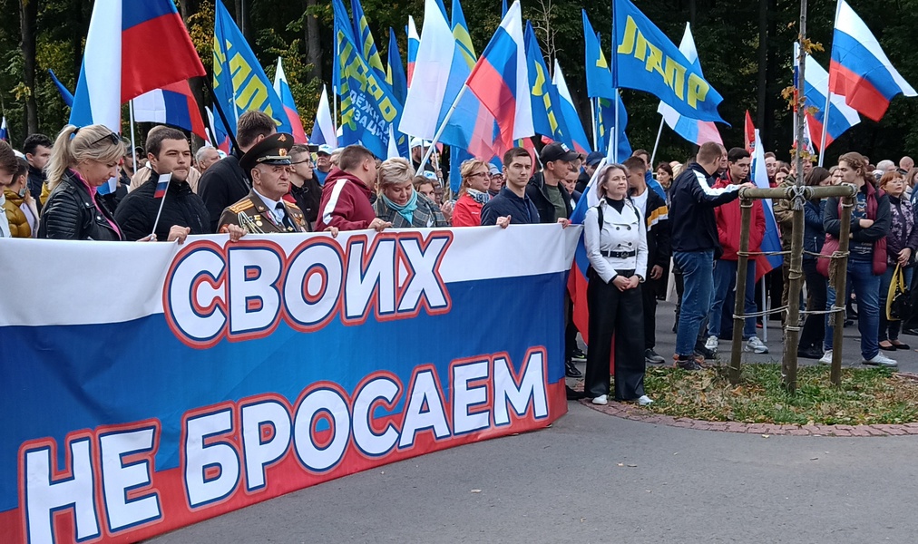
[[[749, 168], [752, 159], [749, 151], [743, 148], [733, 148], [727, 154], [727, 171], [725, 177], [715, 187], [739, 185], [749, 180]], [[736, 285], [736, 268], [740, 249], [740, 236], [742, 230], [742, 212], [740, 201], [734, 200], [714, 209], [717, 219], [717, 233], [721, 241], [723, 254], [714, 266], [714, 301], [711, 305], [711, 314], [708, 315], [708, 340], [705, 348], [716, 351], [718, 339], [721, 336], [722, 313], [733, 315], [733, 289], [736, 296], [740, 294], [740, 287]], [[749, 225], [749, 251], [760, 251], [762, 239], [765, 238], [765, 211], [762, 201], [754, 200], [752, 205], [752, 222]], [[746, 269], [746, 284], [744, 285], [745, 310], [744, 313], [756, 311], [756, 260], [750, 259]], [[728, 307], [724, 307], [724, 303]], [[743, 339], [746, 340], [744, 350], [756, 353], [767, 353], [768, 348], [756, 336], [756, 318], [746, 317], [743, 328]]]

